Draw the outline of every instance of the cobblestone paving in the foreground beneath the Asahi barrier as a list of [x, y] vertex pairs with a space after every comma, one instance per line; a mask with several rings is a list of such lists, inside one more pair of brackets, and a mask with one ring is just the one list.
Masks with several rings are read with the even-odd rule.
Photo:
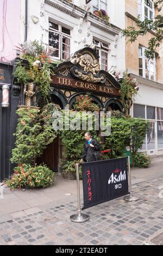
[[135, 184], [137, 202], [117, 198], [93, 206], [84, 210], [90, 215], [85, 223], [70, 221], [77, 202], [68, 197], [64, 204], [61, 200], [58, 205], [51, 202], [16, 212], [0, 221], [0, 245], [151, 245], [163, 231], [161, 185], [163, 177]]

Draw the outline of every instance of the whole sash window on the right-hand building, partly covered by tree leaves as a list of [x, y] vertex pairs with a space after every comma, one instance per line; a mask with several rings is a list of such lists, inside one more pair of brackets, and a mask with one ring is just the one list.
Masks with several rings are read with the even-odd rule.
[[155, 81], [155, 59], [145, 57], [145, 47], [139, 47], [139, 75]]

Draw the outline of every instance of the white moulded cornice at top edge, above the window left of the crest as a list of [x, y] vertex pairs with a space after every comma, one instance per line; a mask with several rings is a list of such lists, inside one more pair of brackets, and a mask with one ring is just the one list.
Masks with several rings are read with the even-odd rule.
[[65, 0], [45, 0], [45, 3], [77, 19], [86, 15], [85, 10]]

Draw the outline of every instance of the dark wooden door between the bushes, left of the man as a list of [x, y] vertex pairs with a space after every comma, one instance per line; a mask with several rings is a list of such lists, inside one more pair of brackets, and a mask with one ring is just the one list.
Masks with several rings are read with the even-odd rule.
[[39, 157], [38, 163], [45, 163], [48, 168], [54, 172], [58, 172], [59, 163], [59, 137], [55, 138], [54, 141], [47, 146], [43, 151], [41, 157]]

